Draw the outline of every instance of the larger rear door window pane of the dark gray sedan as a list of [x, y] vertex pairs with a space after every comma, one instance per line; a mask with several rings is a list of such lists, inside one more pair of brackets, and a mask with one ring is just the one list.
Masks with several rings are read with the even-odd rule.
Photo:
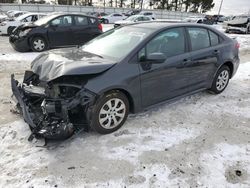
[[210, 47], [210, 40], [207, 29], [193, 27], [188, 28], [191, 47], [193, 51]]

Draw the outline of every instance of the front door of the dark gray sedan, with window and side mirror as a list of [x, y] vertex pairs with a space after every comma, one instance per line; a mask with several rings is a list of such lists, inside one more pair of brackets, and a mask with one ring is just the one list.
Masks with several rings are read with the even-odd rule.
[[184, 28], [178, 27], [161, 32], [138, 53], [143, 107], [187, 92], [186, 44]]

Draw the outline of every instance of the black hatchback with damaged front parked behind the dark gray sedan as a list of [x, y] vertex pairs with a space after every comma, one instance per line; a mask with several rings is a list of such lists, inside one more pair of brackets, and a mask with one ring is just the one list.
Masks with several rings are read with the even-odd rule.
[[34, 23], [21, 25], [10, 35], [20, 52], [41, 52], [50, 48], [76, 46], [102, 33], [98, 18], [84, 14], [54, 13]]

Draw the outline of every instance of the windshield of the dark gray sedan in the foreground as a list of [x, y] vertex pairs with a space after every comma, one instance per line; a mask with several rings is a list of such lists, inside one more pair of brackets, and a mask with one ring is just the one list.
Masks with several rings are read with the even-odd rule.
[[86, 52], [120, 60], [152, 33], [151, 29], [122, 27], [91, 40], [82, 49]]

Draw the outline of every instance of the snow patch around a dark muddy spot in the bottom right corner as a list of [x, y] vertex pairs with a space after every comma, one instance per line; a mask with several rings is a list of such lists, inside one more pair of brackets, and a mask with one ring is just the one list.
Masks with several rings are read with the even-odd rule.
[[[204, 185], [204, 187], [250, 187], [249, 144], [217, 144], [212, 150], [202, 154], [200, 163], [203, 167], [204, 174], [200, 177], [199, 182]], [[238, 182], [231, 183], [230, 178], [237, 178], [237, 175], [234, 174], [236, 170], [240, 170], [242, 175], [239, 176]], [[228, 171], [229, 174], [227, 174]], [[234, 175], [235, 177], [233, 177]], [[240, 179], [241, 176], [243, 179]]]

